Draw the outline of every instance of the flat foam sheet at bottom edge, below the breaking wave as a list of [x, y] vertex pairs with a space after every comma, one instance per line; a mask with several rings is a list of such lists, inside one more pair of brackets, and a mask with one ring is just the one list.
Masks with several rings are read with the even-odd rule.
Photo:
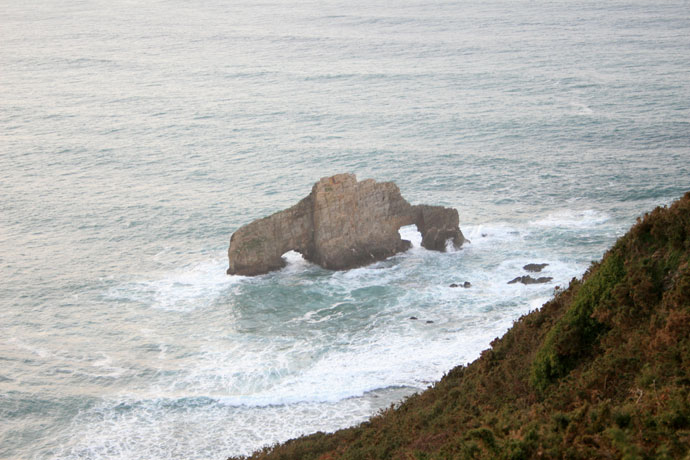
[[264, 445], [364, 421], [375, 410], [365, 400], [335, 404], [245, 408], [214, 400], [106, 400], [80, 414], [51, 458], [211, 460], [249, 454]]

